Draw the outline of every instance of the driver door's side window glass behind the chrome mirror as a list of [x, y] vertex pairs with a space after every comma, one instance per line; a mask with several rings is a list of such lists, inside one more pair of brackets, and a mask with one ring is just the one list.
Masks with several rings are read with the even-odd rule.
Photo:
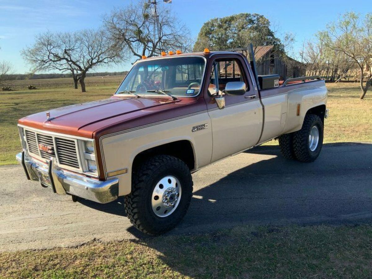
[[247, 77], [240, 61], [230, 58], [218, 59], [215, 61], [211, 71], [211, 79], [209, 80], [208, 91], [210, 94], [216, 93], [216, 90], [213, 90], [217, 86], [215, 79], [216, 71], [214, 70], [215, 67], [217, 67], [219, 91], [223, 92], [226, 84], [230, 81], [243, 81], [246, 84], [247, 91], [249, 91], [249, 83], [247, 82]]

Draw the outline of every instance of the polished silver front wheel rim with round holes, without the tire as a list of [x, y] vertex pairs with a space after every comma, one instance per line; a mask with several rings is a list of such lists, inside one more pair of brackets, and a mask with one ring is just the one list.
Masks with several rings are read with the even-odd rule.
[[151, 207], [158, 217], [167, 217], [176, 210], [180, 199], [181, 183], [174, 176], [165, 176], [153, 190]]

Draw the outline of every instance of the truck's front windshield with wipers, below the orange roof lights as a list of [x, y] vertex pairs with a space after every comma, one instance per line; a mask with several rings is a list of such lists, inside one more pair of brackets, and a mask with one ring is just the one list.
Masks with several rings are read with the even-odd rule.
[[196, 96], [200, 90], [205, 60], [179, 57], [148, 60], [134, 65], [115, 94], [162, 94]]

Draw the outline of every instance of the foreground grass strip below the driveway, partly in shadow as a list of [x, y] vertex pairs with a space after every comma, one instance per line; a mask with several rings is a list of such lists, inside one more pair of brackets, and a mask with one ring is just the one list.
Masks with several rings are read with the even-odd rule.
[[371, 278], [372, 227], [213, 234], [0, 253], [0, 278]]

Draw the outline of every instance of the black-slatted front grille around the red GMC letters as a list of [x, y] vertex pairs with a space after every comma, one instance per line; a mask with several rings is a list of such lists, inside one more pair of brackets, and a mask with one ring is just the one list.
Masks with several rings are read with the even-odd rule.
[[[61, 165], [80, 169], [76, 141], [24, 130], [29, 153], [44, 159], [57, 158]], [[53, 148], [54, 154], [39, 150], [39, 144]]]

